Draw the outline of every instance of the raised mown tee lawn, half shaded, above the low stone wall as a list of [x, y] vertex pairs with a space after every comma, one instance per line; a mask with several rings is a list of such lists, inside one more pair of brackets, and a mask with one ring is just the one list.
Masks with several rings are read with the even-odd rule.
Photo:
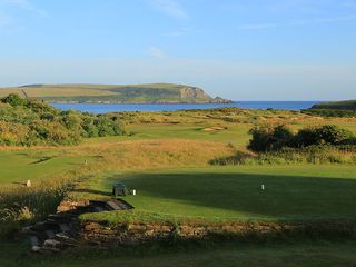
[[[356, 166], [337, 165], [191, 168], [107, 175], [82, 191], [100, 198], [123, 181], [137, 189], [137, 196], [125, 197], [136, 207], [137, 220], [145, 214], [214, 221], [355, 218], [355, 174]], [[90, 218], [115, 222], [122, 212]]]

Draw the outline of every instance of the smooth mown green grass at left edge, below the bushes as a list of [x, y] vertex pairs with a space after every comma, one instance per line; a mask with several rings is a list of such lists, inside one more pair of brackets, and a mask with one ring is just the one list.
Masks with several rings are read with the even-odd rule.
[[53, 150], [0, 151], [0, 184], [26, 182], [50, 177], [82, 165], [82, 157], [66, 157]]

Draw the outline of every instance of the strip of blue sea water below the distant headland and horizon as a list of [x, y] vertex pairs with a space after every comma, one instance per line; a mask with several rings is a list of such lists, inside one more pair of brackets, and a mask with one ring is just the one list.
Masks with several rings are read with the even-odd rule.
[[51, 103], [53, 107], [68, 110], [76, 109], [91, 113], [117, 111], [175, 111], [181, 109], [214, 109], [238, 107], [248, 109], [287, 109], [301, 110], [310, 108], [318, 101], [236, 101], [233, 103]]

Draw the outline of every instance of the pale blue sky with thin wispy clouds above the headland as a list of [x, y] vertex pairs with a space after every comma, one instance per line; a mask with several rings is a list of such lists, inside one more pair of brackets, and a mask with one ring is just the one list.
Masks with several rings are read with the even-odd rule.
[[356, 99], [356, 0], [0, 0], [0, 86]]

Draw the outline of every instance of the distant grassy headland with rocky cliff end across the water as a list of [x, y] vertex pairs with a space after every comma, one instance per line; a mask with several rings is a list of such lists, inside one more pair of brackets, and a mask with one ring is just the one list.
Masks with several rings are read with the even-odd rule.
[[30, 85], [22, 87], [0, 88], [0, 97], [18, 93], [28, 98], [37, 98], [48, 102], [229, 102], [221, 98], [212, 98], [197, 87], [151, 83], [151, 85]]

